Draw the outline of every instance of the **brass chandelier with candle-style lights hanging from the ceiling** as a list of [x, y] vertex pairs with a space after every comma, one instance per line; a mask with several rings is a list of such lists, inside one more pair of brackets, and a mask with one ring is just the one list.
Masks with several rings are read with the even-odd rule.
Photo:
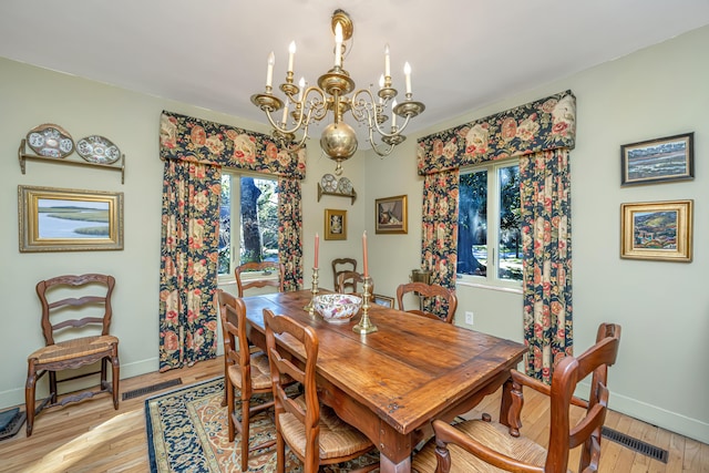
[[[377, 96], [369, 89], [354, 90], [354, 81], [342, 66], [347, 44], [352, 38], [354, 27], [349, 14], [342, 10], [336, 10], [332, 13], [331, 23], [335, 34], [335, 65], [320, 75], [317, 86], [306, 88], [304, 78], [297, 85], [294, 83], [296, 43], [291, 42], [288, 49], [286, 82], [279, 86], [285, 94], [285, 101], [273, 94], [275, 56], [271, 52], [268, 55], [266, 91], [251, 95], [251, 102], [266, 113], [274, 128], [274, 137], [281, 144], [288, 145], [291, 151], [302, 146], [308, 137], [308, 127], [312, 123], [322, 121], [328, 112], [332, 112], [332, 123], [322, 131], [320, 147], [328, 157], [337, 162], [335, 173], [340, 175], [342, 161], [350, 158], [358, 146], [354, 130], [343, 121], [348, 112], [357, 122], [367, 126], [367, 141], [372, 150], [380, 156], [387, 156], [394, 146], [405, 140], [401, 133], [409, 124], [409, 120], [422, 113], [425, 106], [412, 100], [411, 66], [408, 62], [404, 65], [405, 99], [397, 103], [398, 92], [391, 86], [389, 45], [384, 48], [384, 73], [379, 79]], [[280, 121], [277, 121], [278, 112], [281, 110]], [[277, 115], [276, 119], [274, 113]], [[391, 114], [391, 120], [388, 113]], [[399, 124], [397, 124], [397, 116], [400, 117]], [[296, 133], [299, 131], [302, 135], [296, 140]]]

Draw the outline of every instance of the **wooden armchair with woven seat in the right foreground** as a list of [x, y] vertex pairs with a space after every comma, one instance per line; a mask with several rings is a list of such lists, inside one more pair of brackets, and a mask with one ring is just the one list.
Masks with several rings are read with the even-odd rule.
[[[558, 362], [551, 385], [512, 370], [513, 400], [507, 415], [510, 426], [492, 422], [487, 414], [483, 414], [481, 420], [469, 420], [454, 426], [435, 420], [435, 439], [414, 456], [412, 466], [420, 473], [562, 473], [568, 471], [569, 450], [583, 445], [578, 471], [598, 471], [600, 431], [608, 405], [608, 367], [616, 362], [619, 343], [620, 326], [602, 323], [593, 347], [578, 357], [569, 356]], [[575, 397], [574, 390], [589, 374], [590, 393], [585, 401]], [[523, 387], [548, 398], [551, 420], [547, 446], [520, 434]], [[572, 405], [585, 409], [584, 415], [574, 425]], [[449, 444], [452, 444], [451, 448]]]

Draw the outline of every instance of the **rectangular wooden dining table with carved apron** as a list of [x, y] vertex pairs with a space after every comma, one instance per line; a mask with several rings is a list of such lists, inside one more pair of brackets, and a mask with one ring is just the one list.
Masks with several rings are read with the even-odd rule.
[[[329, 323], [304, 310], [311, 297], [310, 290], [245, 297], [249, 340], [265, 348], [265, 308], [314, 327], [320, 399], [374, 443], [381, 472], [410, 472], [413, 449], [434, 419], [453, 420], [503, 385], [501, 413], [508, 408], [510, 370], [523, 345], [378, 305], [368, 312], [378, 330], [359, 335], [352, 327], [360, 315]], [[305, 356], [286, 338], [278, 342]]]

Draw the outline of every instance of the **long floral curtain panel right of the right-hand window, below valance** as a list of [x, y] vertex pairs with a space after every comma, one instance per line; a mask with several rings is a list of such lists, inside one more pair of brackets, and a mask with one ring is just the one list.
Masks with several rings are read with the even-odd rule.
[[574, 345], [568, 150], [522, 156], [520, 181], [527, 373], [551, 383]]

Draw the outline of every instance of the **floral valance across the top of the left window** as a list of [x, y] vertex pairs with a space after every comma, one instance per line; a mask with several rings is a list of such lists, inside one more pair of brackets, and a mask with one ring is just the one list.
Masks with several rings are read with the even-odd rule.
[[268, 135], [166, 111], [160, 119], [160, 157], [306, 177], [305, 146], [290, 153]]

